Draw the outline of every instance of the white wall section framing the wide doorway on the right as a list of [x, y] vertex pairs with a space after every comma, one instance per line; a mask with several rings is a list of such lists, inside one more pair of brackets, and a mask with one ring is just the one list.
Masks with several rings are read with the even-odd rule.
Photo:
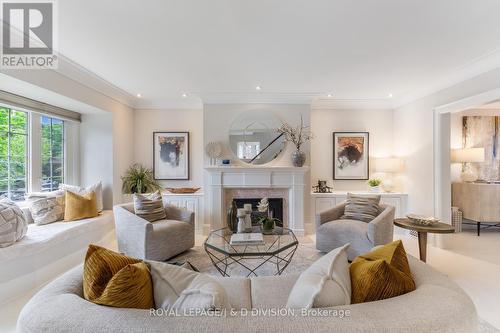
[[395, 152], [406, 160], [405, 188], [409, 211], [434, 214], [434, 116], [433, 110], [500, 87], [500, 69], [399, 107], [394, 115]]

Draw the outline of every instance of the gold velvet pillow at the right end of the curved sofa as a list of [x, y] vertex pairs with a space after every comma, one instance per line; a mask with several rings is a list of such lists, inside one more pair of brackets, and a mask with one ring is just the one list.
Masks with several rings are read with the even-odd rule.
[[416, 288], [400, 240], [356, 257], [350, 272], [352, 304], [391, 298]]

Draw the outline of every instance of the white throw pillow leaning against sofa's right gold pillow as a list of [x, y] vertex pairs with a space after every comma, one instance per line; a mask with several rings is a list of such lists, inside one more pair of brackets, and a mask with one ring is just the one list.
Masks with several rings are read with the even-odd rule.
[[302, 272], [288, 296], [287, 308], [326, 308], [350, 304], [348, 247], [349, 244], [346, 244], [330, 251]]

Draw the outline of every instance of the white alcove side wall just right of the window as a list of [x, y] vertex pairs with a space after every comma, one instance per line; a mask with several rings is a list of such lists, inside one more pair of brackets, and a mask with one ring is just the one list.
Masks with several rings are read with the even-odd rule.
[[104, 208], [113, 207], [113, 117], [110, 113], [82, 115], [80, 124], [80, 184], [103, 185]]

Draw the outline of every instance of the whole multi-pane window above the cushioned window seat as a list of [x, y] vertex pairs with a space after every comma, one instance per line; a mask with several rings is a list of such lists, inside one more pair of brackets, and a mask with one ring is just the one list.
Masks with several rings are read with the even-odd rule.
[[0, 105], [0, 196], [53, 191], [64, 182], [65, 122]]

